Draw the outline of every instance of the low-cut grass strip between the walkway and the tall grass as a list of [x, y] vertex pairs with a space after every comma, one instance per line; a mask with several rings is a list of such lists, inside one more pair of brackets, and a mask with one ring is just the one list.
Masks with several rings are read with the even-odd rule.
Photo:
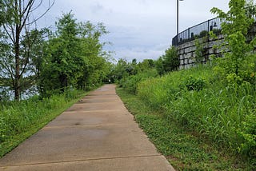
[[177, 170], [253, 170], [253, 166], [226, 153], [196, 133], [191, 133], [170, 121], [162, 109], [150, 107], [134, 94], [117, 89], [126, 108], [134, 114], [135, 120]]

